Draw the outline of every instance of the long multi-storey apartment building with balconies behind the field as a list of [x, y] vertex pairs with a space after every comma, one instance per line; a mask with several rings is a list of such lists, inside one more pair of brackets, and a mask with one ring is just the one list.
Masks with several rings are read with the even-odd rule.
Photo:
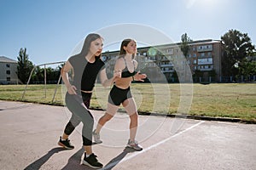
[[[137, 61], [140, 69], [147, 69], [147, 74], [154, 77], [156, 82], [162, 80], [174, 82], [174, 72], [178, 77], [195, 74], [201, 71], [201, 81], [218, 82], [221, 77], [221, 59], [223, 56], [222, 43], [219, 40], [200, 40], [189, 42], [189, 54], [183, 56], [181, 43], [160, 44], [137, 48]], [[109, 68], [113, 68], [119, 51], [102, 53], [102, 59], [108, 61]], [[109, 69], [109, 72], [111, 69]], [[212, 76], [212, 72], [215, 76]]]

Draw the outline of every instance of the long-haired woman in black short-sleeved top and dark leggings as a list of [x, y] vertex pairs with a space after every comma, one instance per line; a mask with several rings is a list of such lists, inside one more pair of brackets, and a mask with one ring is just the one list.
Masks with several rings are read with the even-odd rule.
[[[107, 78], [105, 64], [101, 59], [102, 45], [103, 40], [100, 35], [89, 34], [84, 40], [81, 52], [70, 57], [61, 69], [62, 80], [67, 87], [65, 101], [72, 116], [58, 144], [66, 149], [73, 149], [74, 146], [70, 144], [68, 136], [80, 122], [83, 122], [82, 138], [85, 150], [83, 164], [94, 168], [101, 168], [102, 163], [97, 161], [91, 148], [94, 118], [88, 109], [92, 90], [98, 74], [101, 76], [103, 86], [110, 86], [117, 77], [120, 77], [120, 74], [114, 74], [113, 78]], [[71, 70], [73, 71], [72, 83], [67, 75]]]

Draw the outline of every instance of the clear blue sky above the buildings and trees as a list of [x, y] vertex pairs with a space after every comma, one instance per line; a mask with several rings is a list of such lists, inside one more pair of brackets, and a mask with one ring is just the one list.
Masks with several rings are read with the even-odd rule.
[[[90, 32], [126, 24], [160, 31], [172, 42], [180, 42], [183, 33], [192, 40], [220, 40], [233, 29], [247, 33], [255, 45], [255, 2], [0, 0], [0, 56], [17, 60], [20, 48], [26, 48], [34, 65], [65, 61]], [[133, 31], [123, 29], [119, 34], [125, 38]], [[119, 45], [103, 47], [103, 51], [118, 49]]]

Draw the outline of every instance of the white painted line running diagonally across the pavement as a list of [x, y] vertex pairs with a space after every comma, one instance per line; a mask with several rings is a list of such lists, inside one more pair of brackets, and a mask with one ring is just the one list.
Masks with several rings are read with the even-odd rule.
[[138, 151], [136, 154], [133, 154], [133, 155], [131, 155], [131, 156], [125, 157], [125, 159], [122, 159], [121, 161], [114, 161], [113, 163], [110, 163], [107, 167], [103, 167], [102, 169], [108, 169], [109, 167], [113, 167], [113, 166], [114, 166], [115, 164], [117, 164], [117, 163], [121, 163], [121, 162], [124, 162], [124, 161], [128, 161], [128, 160], [130, 160], [131, 158], [133, 158], [133, 157], [135, 157], [135, 156], [141, 155], [141, 154], [143, 154], [144, 152], [146, 152], [146, 151], [148, 151], [148, 150], [151, 150], [152, 148], [155, 148], [155, 147], [159, 146], [160, 144], [166, 143], [168, 140], [173, 139], [173, 138], [177, 137], [177, 136], [180, 135], [180, 134], [183, 134], [183, 133], [185, 133], [185, 132], [188, 132], [188, 131], [191, 130], [192, 128], [201, 125], [201, 123], [203, 123], [203, 122], [205, 122], [205, 121], [198, 122], [198, 123], [196, 123], [195, 125], [193, 125], [193, 126], [191, 126], [191, 127], [189, 127], [189, 128], [186, 128], [185, 130], [183, 130], [183, 131], [181, 131], [181, 132], [179, 132], [179, 133], [176, 133], [176, 134], [174, 134], [173, 136], [170, 136], [170, 137], [167, 138], [167, 139], [164, 139], [164, 140], [160, 141], [159, 143], [153, 144], [153, 145], [149, 146], [148, 148], [143, 149], [142, 151]]

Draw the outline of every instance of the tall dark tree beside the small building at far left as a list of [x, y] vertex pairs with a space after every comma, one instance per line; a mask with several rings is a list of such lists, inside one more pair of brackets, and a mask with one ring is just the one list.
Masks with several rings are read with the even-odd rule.
[[17, 75], [20, 82], [26, 83], [30, 73], [33, 69], [32, 62], [28, 59], [28, 54], [26, 54], [26, 48], [20, 48], [17, 65]]

